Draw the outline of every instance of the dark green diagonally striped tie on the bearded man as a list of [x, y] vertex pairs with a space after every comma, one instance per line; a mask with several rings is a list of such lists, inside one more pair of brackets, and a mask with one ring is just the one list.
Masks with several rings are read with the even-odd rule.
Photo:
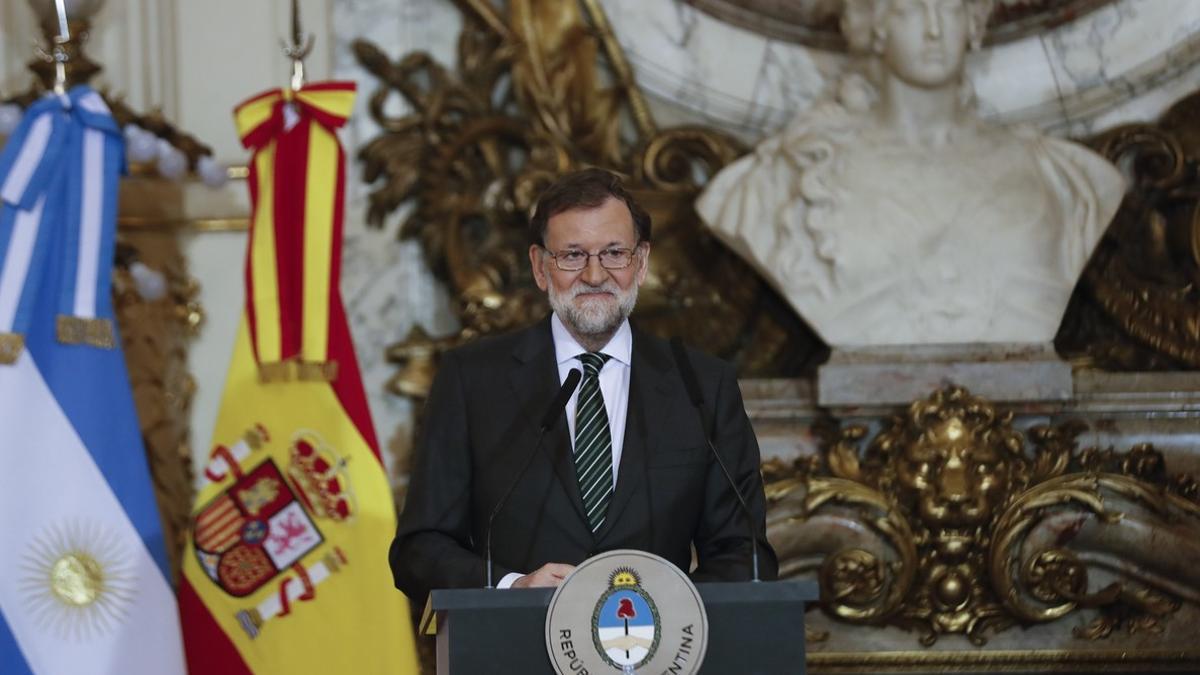
[[575, 406], [575, 476], [593, 532], [604, 524], [612, 496], [612, 434], [600, 393], [600, 369], [608, 358], [608, 354], [595, 352], [580, 354], [583, 383]]

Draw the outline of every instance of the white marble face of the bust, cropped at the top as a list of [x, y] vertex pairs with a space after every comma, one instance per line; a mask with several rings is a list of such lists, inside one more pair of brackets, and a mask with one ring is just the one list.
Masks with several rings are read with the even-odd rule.
[[962, 74], [971, 24], [965, 0], [892, 0], [875, 26], [876, 52], [905, 83], [946, 86]]

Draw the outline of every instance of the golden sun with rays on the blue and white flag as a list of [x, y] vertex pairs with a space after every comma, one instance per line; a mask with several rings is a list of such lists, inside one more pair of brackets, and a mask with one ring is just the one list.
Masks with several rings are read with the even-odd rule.
[[30, 542], [20, 569], [30, 615], [62, 639], [86, 641], [112, 631], [136, 596], [128, 551], [97, 522], [47, 527]]

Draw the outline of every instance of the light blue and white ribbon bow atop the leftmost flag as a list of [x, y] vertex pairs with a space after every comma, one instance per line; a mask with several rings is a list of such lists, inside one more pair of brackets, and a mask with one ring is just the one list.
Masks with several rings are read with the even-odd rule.
[[0, 154], [0, 364], [24, 348], [47, 255], [62, 259], [56, 333], [113, 348], [112, 259], [120, 127], [86, 85], [25, 112]]

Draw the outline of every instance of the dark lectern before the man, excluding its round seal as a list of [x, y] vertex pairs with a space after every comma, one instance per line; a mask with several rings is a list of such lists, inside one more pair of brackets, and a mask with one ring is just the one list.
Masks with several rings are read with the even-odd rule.
[[[708, 614], [701, 675], [804, 674], [804, 603], [815, 581], [696, 584]], [[546, 607], [553, 589], [439, 590], [425, 632], [437, 633], [438, 675], [548, 674]]]

